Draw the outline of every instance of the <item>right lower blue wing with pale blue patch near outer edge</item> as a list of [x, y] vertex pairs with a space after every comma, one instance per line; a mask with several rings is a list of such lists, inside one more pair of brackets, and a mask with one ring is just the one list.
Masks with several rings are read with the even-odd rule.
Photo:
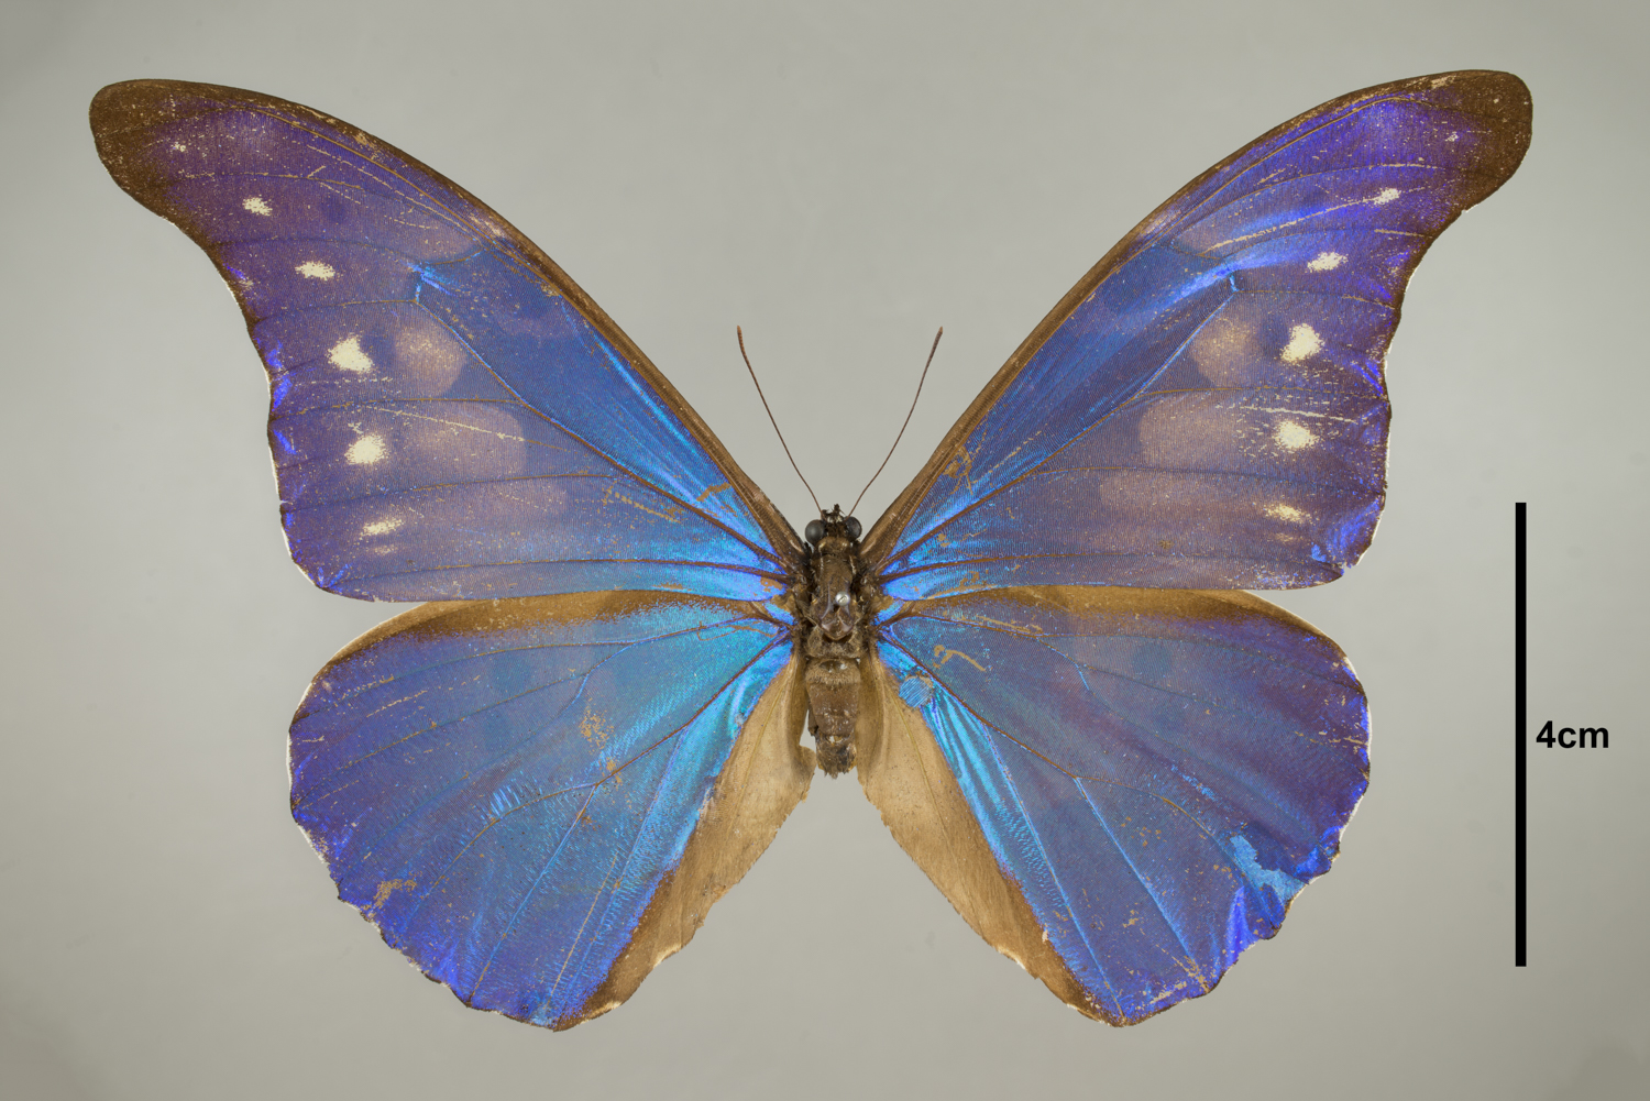
[[866, 796], [980, 936], [1115, 1025], [1277, 933], [1368, 782], [1345, 655], [1247, 593], [917, 601], [878, 650]]

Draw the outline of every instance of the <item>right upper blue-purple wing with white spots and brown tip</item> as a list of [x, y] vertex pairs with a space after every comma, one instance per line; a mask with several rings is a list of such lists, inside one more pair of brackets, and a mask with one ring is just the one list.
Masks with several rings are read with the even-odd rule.
[[878, 520], [865, 553], [884, 591], [1340, 576], [1384, 499], [1404, 284], [1528, 144], [1516, 76], [1449, 73], [1323, 104], [1193, 180]]

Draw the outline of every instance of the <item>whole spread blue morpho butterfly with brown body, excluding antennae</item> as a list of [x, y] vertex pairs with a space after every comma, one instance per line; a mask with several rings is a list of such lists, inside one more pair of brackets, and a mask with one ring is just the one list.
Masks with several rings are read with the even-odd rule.
[[1371, 87], [1228, 157], [870, 532], [833, 508], [805, 540], [544, 253], [406, 154], [208, 84], [114, 84], [91, 120], [246, 312], [292, 558], [434, 601], [317, 673], [292, 812], [467, 1004], [566, 1028], [630, 997], [815, 764], [1110, 1023], [1206, 994], [1328, 870], [1363, 692], [1239, 589], [1368, 546], [1404, 282], [1523, 157], [1518, 78]]

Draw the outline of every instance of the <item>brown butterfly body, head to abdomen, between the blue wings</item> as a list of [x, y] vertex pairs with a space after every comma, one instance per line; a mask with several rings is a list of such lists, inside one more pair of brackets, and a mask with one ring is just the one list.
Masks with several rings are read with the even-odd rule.
[[842, 507], [820, 512], [805, 536], [812, 550], [797, 593], [797, 650], [808, 687], [808, 730], [820, 768], [840, 776], [853, 768], [860, 718], [860, 659], [868, 654], [866, 609], [874, 602], [860, 563], [860, 522]]

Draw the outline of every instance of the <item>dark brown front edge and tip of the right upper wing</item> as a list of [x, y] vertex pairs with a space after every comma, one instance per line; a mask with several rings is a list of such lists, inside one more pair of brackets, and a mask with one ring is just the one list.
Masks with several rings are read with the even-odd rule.
[[[888, 561], [899, 545], [899, 536], [904, 532], [911, 512], [916, 510], [916, 507], [927, 497], [929, 489], [939, 479], [940, 472], [952, 462], [965, 437], [985, 418], [997, 399], [1002, 398], [1003, 391], [1008, 390], [1010, 383], [1013, 383], [1021, 368], [1025, 368], [1025, 365], [1038, 353], [1054, 330], [1066, 322], [1072, 310], [1076, 310], [1077, 305], [1081, 305], [1094, 292], [1094, 289], [1101, 286], [1101, 282], [1147, 248], [1163, 229], [1185, 213], [1181, 206], [1188, 198], [1195, 196], [1211, 180], [1231, 168], [1252, 150], [1282, 137], [1290, 130], [1310, 124], [1313, 119], [1335, 114], [1336, 111], [1341, 111], [1358, 101], [1373, 101], [1376, 97], [1402, 94], [1406, 91], [1432, 89], [1440, 83], [1447, 83], [1450, 86], [1460, 109], [1477, 114], [1500, 116], [1508, 132], [1508, 140], [1503, 145], [1503, 158], [1492, 165], [1495, 172], [1485, 175], [1482, 191], [1472, 195], [1465, 203], [1462, 203], [1462, 208], [1454, 213], [1450, 221], [1454, 221], [1455, 216], [1460, 216], [1465, 208], [1478, 203], [1487, 195], [1495, 191], [1518, 167], [1530, 145], [1530, 89], [1525, 87], [1525, 83], [1511, 73], [1498, 73], [1493, 69], [1462, 69], [1457, 73], [1437, 73], [1432, 76], [1393, 81], [1389, 84], [1376, 84], [1373, 87], [1365, 87], [1361, 91], [1332, 99], [1302, 116], [1290, 119], [1289, 122], [1284, 122], [1282, 125], [1272, 127], [1256, 140], [1211, 167], [1208, 172], [1191, 180], [1186, 187], [1175, 191], [1168, 201], [1147, 215], [1140, 224], [1124, 234], [1124, 238], [1114, 244], [1110, 251], [1107, 251], [1106, 256], [1102, 256], [1071, 291], [1066, 292], [1066, 297], [1063, 297], [1020, 343], [1020, 347], [1015, 348], [1015, 353], [1008, 357], [1008, 361], [1003, 363], [997, 375], [992, 376], [992, 381], [985, 385], [985, 390], [980, 391], [969, 409], [957, 419], [940, 441], [939, 447], [934, 449], [934, 456], [927, 461], [927, 464], [924, 464], [921, 472], [917, 472], [917, 477], [912, 479], [904, 492], [901, 492], [888, 510], [876, 520], [870, 533], [865, 536], [865, 560], [874, 563], [876, 566]], [[1505, 104], [1502, 101], [1505, 101]], [[1398, 324], [1396, 315], [1393, 324]]]

